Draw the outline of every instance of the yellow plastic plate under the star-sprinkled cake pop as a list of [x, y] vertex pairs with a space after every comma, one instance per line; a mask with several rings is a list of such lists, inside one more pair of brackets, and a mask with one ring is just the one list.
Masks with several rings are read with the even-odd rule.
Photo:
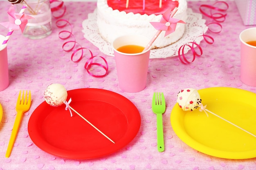
[[[198, 90], [206, 109], [256, 135], [256, 94], [238, 88], [213, 87]], [[256, 157], [256, 137], [198, 109], [183, 111], [175, 104], [171, 125], [188, 146], [204, 154], [227, 158]]]

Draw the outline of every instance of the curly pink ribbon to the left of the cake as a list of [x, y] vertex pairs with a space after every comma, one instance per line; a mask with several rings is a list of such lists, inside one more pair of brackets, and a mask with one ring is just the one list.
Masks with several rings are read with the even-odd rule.
[[[61, 18], [63, 17], [63, 15], [66, 12], [66, 7], [64, 5], [64, 2], [62, 0], [50, 0], [51, 2], [51, 11], [52, 13], [57, 13], [58, 15], [53, 15], [54, 18]], [[70, 24], [70, 22], [68, 22], [68, 20], [65, 19], [58, 19], [56, 21], [56, 26], [58, 28], [64, 28], [65, 26], [69, 26], [70, 27], [70, 31], [67, 30], [63, 30], [60, 31], [58, 36], [61, 40], [67, 40], [68, 38], [73, 38], [74, 40], [70, 40], [70, 41], [66, 41], [63, 43], [62, 45], [62, 49], [66, 52], [70, 52], [72, 50], [74, 50], [74, 48], [76, 46], [79, 46], [78, 49], [74, 50], [74, 52], [71, 55], [71, 60], [72, 62], [79, 62], [82, 60], [83, 55], [84, 55], [84, 50], [89, 51], [90, 55], [89, 55], [89, 59], [87, 60], [87, 62], [85, 63], [85, 70], [88, 72], [89, 75], [93, 76], [93, 77], [104, 77], [107, 75], [108, 73], [108, 62], [106, 61], [106, 59], [104, 57], [101, 56], [93, 56], [92, 51], [90, 51], [87, 48], [83, 48], [78, 42], [76, 42], [75, 36], [72, 34], [72, 25]], [[77, 53], [81, 51], [80, 53], [80, 57], [78, 57], [77, 60], [74, 60], [74, 57], [76, 57], [76, 55], [78, 55]], [[103, 60], [104, 64], [100, 64], [98, 62], [93, 62], [93, 59], [95, 57], [99, 57], [100, 59]], [[94, 70], [99, 70], [99, 69], [93, 69], [92, 67], [95, 66], [99, 66], [100, 68], [104, 69], [104, 73], [103, 74], [95, 74], [92, 73], [92, 71]]]

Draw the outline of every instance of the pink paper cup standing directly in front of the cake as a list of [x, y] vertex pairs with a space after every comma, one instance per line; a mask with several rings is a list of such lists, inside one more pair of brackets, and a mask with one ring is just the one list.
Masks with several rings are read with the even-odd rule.
[[146, 87], [150, 48], [141, 53], [121, 53], [117, 49], [125, 45], [146, 46], [150, 39], [143, 35], [124, 35], [112, 42], [119, 87], [128, 93], [142, 91]]

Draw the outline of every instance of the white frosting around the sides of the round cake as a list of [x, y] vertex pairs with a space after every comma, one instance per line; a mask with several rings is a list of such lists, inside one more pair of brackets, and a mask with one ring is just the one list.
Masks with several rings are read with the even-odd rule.
[[[178, 0], [178, 11], [173, 18], [186, 22], [186, 0]], [[97, 1], [97, 25], [102, 38], [112, 43], [112, 41], [126, 34], [139, 34], [152, 39], [157, 30], [150, 22], [159, 22], [162, 15], [141, 15], [139, 13], [126, 13], [125, 11], [113, 10], [108, 6], [107, 0]], [[185, 24], [177, 23], [175, 32], [164, 37], [162, 31], [152, 45], [152, 49], [162, 48], [177, 42], [185, 31]]]

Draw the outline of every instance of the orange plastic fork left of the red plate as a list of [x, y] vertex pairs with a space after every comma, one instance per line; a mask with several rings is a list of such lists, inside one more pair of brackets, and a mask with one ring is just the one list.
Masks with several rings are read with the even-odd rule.
[[27, 91], [26, 91], [25, 94], [24, 94], [24, 91], [23, 91], [22, 92], [22, 98], [20, 99], [20, 97], [21, 97], [21, 91], [19, 93], [17, 104], [16, 104], [17, 115], [16, 115], [16, 118], [15, 118], [15, 121], [14, 121], [13, 129], [12, 129], [12, 132], [11, 132], [11, 138], [10, 138], [8, 148], [7, 148], [7, 152], [6, 152], [6, 155], [5, 155], [5, 157], [7, 157], [7, 158], [10, 157], [10, 155], [11, 155], [11, 150], [13, 148], [13, 144], [14, 144], [14, 142], [16, 140], [16, 137], [17, 137], [17, 134], [18, 134], [18, 130], [19, 130], [19, 127], [20, 127], [20, 122], [21, 122], [22, 115], [23, 115], [23, 113], [27, 112], [29, 110], [30, 106], [31, 106], [31, 93], [30, 93], [30, 91], [29, 91], [28, 99], [27, 99]]

